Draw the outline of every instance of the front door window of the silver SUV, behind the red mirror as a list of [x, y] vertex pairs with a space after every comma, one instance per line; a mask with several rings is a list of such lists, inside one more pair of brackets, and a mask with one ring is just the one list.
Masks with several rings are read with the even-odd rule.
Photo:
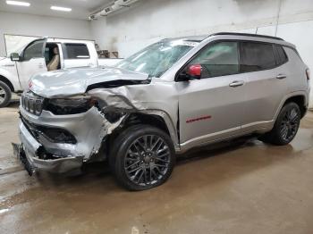
[[202, 66], [201, 78], [236, 74], [239, 72], [238, 43], [223, 41], [209, 45], [190, 64]]

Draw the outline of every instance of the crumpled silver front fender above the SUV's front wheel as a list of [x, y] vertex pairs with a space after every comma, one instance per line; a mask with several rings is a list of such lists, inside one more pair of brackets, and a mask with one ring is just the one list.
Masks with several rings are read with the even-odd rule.
[[96, 88], [90, 90], [88, 95], [97, 97], [105, 103], [104, 112], [118, 110], [123, 113], [144, 113], [159, 116], [165, 121], [175, 150], [180, 150], [176, 126], [178, 122], [178, 100], [173, 86], [134, 85], [119, 88]]

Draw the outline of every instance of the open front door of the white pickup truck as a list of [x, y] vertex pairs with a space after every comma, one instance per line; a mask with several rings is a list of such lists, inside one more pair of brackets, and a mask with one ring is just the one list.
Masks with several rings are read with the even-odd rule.
[[44, 51], [47, 39], [32, 41], [21, 54], [21, 61], [17, 63], [17, 71], [21, 88], [28, 88], [30, 78], [40, 72], [47, 71]]

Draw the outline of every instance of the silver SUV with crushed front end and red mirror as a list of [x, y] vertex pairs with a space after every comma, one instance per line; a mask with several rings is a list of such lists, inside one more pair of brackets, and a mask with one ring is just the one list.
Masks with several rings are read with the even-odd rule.
[[107, 160], [131, 190], [164, 183], [195, 146], [247, 135], [288, 144], [309, 104], [295, 46], [238, 33], [164, 39], [115, 68], [41, 73], [29, 86], [14, 151], [30, 175]]

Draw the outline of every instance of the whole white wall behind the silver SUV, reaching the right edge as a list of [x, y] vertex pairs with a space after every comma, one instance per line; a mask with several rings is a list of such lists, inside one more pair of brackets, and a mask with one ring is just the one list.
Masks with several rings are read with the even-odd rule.
[[217, 31], [275, 36], [277, 21], [277, 37], [295, 44], [313, 73], [312, 0], [141, 0], [92, 21], [91, 30], [100, 48], [126, 57], [160, 38]]

